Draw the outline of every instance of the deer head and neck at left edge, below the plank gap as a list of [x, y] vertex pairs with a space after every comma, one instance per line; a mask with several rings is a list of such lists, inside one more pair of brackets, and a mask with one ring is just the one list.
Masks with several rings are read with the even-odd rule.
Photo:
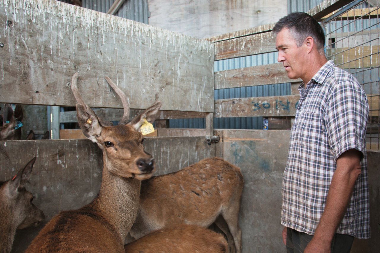
[[36, 157], [13, 178], [0, 182], [0, 252], [9, 253], [16, 229], [38, 226], [45, 216], [33, 203], [33, 194], [25, 189]]

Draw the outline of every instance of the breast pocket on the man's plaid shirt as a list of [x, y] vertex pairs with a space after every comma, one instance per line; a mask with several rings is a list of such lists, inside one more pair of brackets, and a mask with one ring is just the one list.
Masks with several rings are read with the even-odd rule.
[[302, 112], [295, 130], [294, 138], [300, 145], [309, 148], [320, 145], [323, 137], [320, 114]]

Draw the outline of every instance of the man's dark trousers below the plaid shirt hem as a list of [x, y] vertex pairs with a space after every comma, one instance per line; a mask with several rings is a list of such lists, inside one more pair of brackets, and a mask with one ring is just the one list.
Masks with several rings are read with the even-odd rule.
[[[313, 236], [287, 228], [287, 253], [303, 253]], [[348, 234], [335, 234], [331, 243], [331, 253], [350, 253], [354, 237]]]

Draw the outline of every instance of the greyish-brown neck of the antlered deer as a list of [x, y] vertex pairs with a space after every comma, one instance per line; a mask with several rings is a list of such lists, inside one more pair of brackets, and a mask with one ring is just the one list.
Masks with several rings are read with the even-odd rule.
[[100, 191], [98, 197], [90, 205], [109, 220], [122, 240], [125, 239], [136, 219], [140, 187], [141, 181], [111, 173], [104, 162]]

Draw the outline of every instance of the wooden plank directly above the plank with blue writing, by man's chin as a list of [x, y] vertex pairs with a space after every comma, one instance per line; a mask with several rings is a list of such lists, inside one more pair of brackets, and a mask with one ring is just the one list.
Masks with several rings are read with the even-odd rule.
[[215, 90], [300, 81], [302, 80], [289, 79], [282, 63], [230, 69], [214, 73]]

